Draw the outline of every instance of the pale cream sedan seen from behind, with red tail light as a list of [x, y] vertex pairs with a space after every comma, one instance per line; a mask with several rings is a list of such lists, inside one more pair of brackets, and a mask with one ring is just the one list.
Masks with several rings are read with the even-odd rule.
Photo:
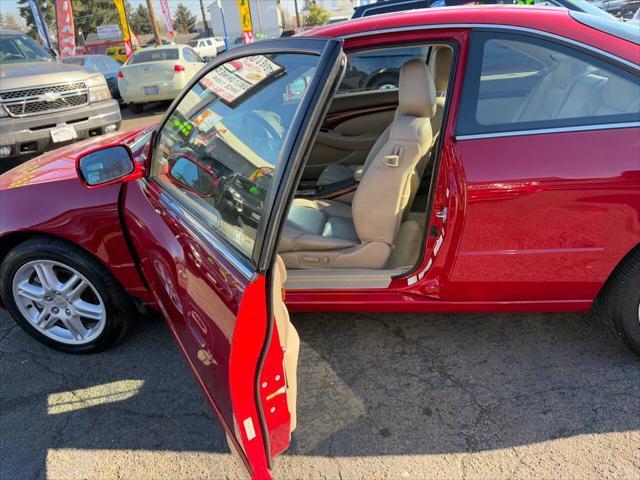
[[145, 103], [173, 100], [205, 62], [188, 45], [143, 48], [118, 72], [118, 88], [134, 113]]

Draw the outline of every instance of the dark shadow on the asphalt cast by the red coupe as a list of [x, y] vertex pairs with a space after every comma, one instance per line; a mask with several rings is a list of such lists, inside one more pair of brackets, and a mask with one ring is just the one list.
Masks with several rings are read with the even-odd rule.
[[[585, 315], [293, 320], [303, 345], [291, 457], [476, 452], [640, 429], [638, 361]], [[45, 476], [49, 449], [228, 452], [160, 319], [115, 349], [72, 356], [0, 313], [0, 373], [2, 478]]]

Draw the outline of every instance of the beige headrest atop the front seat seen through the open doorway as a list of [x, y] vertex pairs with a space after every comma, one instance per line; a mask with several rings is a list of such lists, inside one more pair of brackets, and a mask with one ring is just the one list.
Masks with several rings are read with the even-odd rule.
[[433, 117], [436, 111], [436, 87], [424, 61], [414, 58], [400, 69], [397, 115]]

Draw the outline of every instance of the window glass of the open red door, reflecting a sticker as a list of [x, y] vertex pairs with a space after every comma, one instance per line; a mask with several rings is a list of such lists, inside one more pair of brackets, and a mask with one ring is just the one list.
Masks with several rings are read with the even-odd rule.
[[291, 84], [319, 57], [255, 55], [204, 75], [159, 133], [151, 178], [243, 256], [251, 258], [264, 203], [304, 95]]

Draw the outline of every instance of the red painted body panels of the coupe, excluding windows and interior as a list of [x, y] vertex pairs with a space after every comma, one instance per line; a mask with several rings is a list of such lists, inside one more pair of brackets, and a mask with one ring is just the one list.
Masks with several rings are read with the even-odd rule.
[[[616, 266], [640, 247], [638, 125], [496, 138], [456, 136], [471, 31], [490, 25], [545, 32], [640, 64], [637, 45], [557, 9], [529, 7], [526, 14], [519, 8], [429, 9], [307, 32], [305, 36], [343, 38], [347, 54], [435, 39], [456, 43], [459, 57], [429, 219], [440, 233], [427, 238], [421, 264], [383, 290], [289, 291], [290, 310], [584, 311]], [[166, 206], [154, 185], [135, 180], [88, 189], [78, 178], [77, 159], [99, 146], [124, 143], [134, 156], [144, 157], [146, 146], [139, 139], [153, 128], [65, 147], [0, 177], [0, 252], [31, 235], [60, 237], [92, 253], [131, 295], [160, 309], [167, 319], [183, 317], [184, 306], [192, 306], [191, 320], [169, 324], [226, 432], [234, 432], [238, 419], [262, 420], [254, 421], [253, 428], [258, 437], [268, 437], [265, 442], [251, 442], [246, 432], [232, 441], [252, 474], [267, 477], [271, 458], [288, 445], [290, 418], [282, 396], [268, 398], [261, 391], [261, 403], [254, 399], [258, 384], [271, 383], [281, 373], [282, 352], [278, 357], [270, 343], [273, 354], [264, 356], [260, 368], [266, 337], [240, 333], [269, 332], [264, 277], [248, 281], [205, 243], [185, 240], [188, 228], [158, 215]], [[445, 208], [447, 218], [438, 218], [435, 212]], [[198, 260], [205, 257], [211, 261]], [[160, 264], [173, 265], [177, 273], [159, 272]], [[180, 287], [188, 278], [208, 280], [199, 288]], [[205, 286], [216, 292], [215, 298], [205, 298]], [[255, 295], [247, 305], [250, 291]], [[190, 322], [202, 325], [198, 317], [211, 318], [211, 311], [218, 312], [207, 324], [214, 331], [202, 330], [212, 335], [204, 343], [222, 359], [218, 369], [198, 363], [196, 352], [204, 343], [198, 345], [184, 333], [194, 328]], [[257, 372], [259, 382], [244, 379], [246, 372]], [[214, 398], [211, 392], [224, 390], [221, 385], [229, 385], [228, 391]], [[265, 413], [271, 407], [276, 415]]]

